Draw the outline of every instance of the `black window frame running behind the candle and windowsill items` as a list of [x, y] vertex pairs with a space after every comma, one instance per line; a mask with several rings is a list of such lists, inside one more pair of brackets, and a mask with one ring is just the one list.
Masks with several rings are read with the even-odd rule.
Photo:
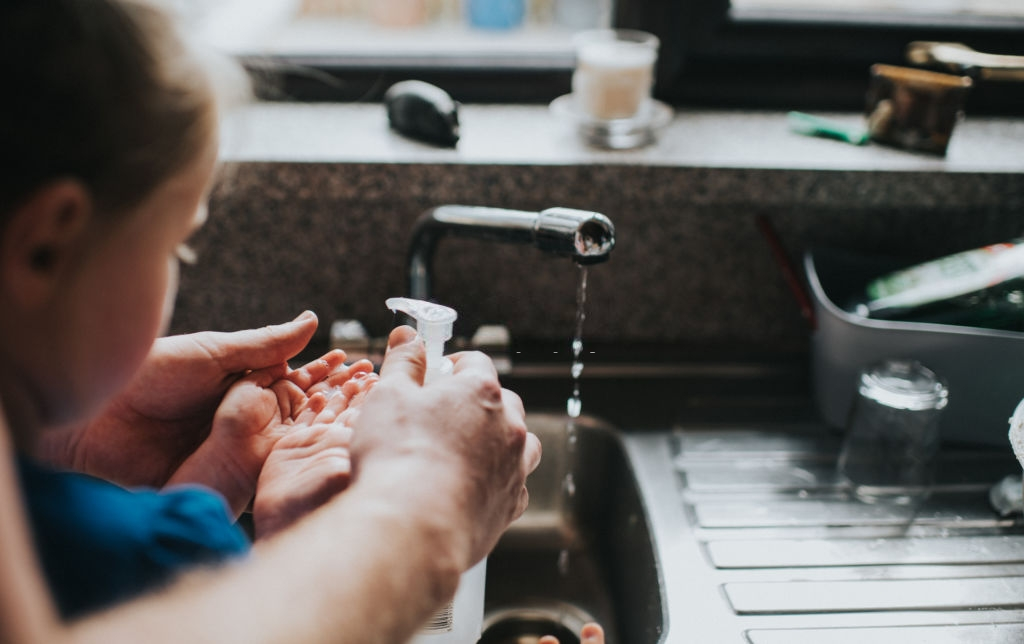
[[[617, 0], [615, 27], [662, 41], [655, 95], [675, 106], [863, 109], [868, 69], [906, 65], [914, 40], [1024, 55], [1024, 18], [736, 10], [729, 0]], [[463, 102], [544, 103], [570, 89], [571, 55], [243, 56], [267, 99], [376, 101], [424, 80]], [[1024, 83], [977, 82], [972, 114], [1024, 115]]]

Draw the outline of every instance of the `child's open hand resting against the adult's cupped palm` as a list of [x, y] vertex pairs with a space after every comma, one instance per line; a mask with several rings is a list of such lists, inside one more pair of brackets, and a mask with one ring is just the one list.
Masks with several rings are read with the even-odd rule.
[[315, 412], [307, 409], [310, 400], [323, 400], [330, 388], [341, 388], [349, 397], [354, 396], [360, 380], [376, 378], [370, 375], [373, 364], [368, 360], [345, 366], [344, 358], [343, 352], [332, 351], [295, 371], [273, 367], [237, 382], [217, 407], [209, 437], [168, 484], [212, 487], [224, 496], [236, 516], [240, 514], [253, 498], [260, 470], [274, 444], [312, 422], [310, 414]]

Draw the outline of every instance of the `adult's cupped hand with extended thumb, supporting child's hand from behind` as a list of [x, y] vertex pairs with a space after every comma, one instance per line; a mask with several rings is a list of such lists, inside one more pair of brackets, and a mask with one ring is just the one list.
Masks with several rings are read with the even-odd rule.
[[44, 432], [43, 460], [123, 485], [160, 487], [203, 442], [227, 389], [276, 367], [316, 330], [306, 311], [284, 325], [159, 338], [128, 387], [87, 424]]

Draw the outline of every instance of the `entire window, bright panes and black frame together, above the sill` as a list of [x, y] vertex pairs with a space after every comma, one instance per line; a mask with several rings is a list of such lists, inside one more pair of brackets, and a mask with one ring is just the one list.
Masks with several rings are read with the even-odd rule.
[[[912, 41], [1024, 55], [1024, 0], [164, 2], [269, 81], [264, 96], [303, 100], [376, 100], [418, 78], [465, 102], [547, 102], [568, 91], [572, 33], [609, 25], [658, 36], [655, 92], [673, 104], [860, 110], [868, 68], [906, 65]], [[471, 4], [521, 18], [474, 28]], [[968, 108], [1024, 115], [1024, 82], [978, 82]]]

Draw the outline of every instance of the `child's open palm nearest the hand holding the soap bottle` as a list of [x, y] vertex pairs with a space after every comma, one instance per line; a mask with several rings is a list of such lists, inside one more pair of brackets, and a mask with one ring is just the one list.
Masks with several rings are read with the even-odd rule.
[[293, 428], [274, 443], [256, 485], [256, 539], [291, 525], [348, 486], [350, 423], [376, 381], [375, 374], [360, 374], [341, 388], [314, 393]]

